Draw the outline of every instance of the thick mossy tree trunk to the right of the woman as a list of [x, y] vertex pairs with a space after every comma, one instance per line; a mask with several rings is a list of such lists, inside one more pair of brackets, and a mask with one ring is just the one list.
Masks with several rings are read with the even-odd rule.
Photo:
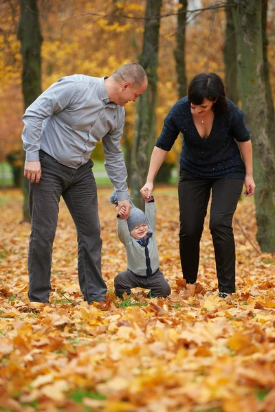
[[[262, 3], [237, 0], [234, 9], [237, 69], [245, 119], [250, 128], [258, 240], [261, 251], [275, 251], [275, 153], [268, 134], [263, 60]], [[249, 216], [248, 216], [249, 218]]]

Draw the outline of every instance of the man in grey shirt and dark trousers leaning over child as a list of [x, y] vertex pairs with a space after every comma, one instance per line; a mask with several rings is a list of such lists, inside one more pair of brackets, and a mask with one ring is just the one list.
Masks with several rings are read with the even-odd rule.
[[90, 159], [102, 139], [105, 167], [118, 194], [118, 211], [131, 205], [120, 139], [124, 105], [142, 95], [148, 80], [137, 63], [110, 77], [67, 76], [52, 84], [23, 115], [24, 176], [30, 181], [32, 231], [28, 255], [30, 301], [46, 303], [51, 290], [52, 244], [61, 195], [74, 219], [78, 238], [78, 279], [84, 299], [102, 302], [100, 222], [96, 181]]

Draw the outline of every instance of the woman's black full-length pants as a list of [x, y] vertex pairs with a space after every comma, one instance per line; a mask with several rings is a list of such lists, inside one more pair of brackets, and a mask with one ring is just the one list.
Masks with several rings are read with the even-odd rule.
[[201, 179], [180, 174], [179, 253], [187, 283], [197, 281], [199, 242], [210, 192], [210, 231], [214, 244], [219, 292], [235, 291], [235, 244], [232, 218], [243, 189], [242, 179]]

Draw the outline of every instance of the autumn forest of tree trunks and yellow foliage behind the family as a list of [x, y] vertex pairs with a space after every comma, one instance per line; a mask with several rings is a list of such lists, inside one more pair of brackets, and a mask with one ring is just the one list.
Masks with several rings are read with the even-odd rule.
[[[104, 6], [83, 0], [3, 0], [0, 11], [0, 161], [12, 164], [19, 185], [24, 108], [62, 76], [102, 76], [138, 60], [148, 74], [148, 89], [136, 110], [133, 104], [127, 106], [122, 147], [131, 195], [142, 207], [139, 190], [166, 113], [186, 94], [192, 76], [214, 71], [225, 77], [227, 96], [242, 106], [251, 129], [257, 240], [262, 251], [274, 251], [273, 0], [125, 0]], [[177, 139], [157, 179], [169, 181], [180, 150]], [[92, 158], [103, 159], [101, 144]], [[23, 218], [30, 220], [25, 179], [22, 187]]]

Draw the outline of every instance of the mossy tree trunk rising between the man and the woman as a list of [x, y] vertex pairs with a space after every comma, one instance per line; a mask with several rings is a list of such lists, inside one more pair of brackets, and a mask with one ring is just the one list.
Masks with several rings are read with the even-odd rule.
[[[155, 105], [157, 100], [157, 58], [159, 49], [159, 13], [162, 0], [147, 0], [144, 39], [140, 65], [148, 76], [148, 88], [137, 100], [131, 152], [131, 196], [144, 209], [140, 188], [146, 181], [148, 163], [155, 142]], [[157, 16], [156, 19], [154, 17]]]

